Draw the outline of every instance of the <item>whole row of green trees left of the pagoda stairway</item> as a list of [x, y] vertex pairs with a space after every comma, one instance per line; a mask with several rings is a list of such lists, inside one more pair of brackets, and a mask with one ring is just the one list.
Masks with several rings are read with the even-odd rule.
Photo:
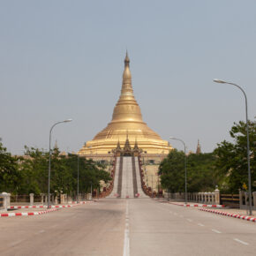
[[[51, 192], [75, 194], [79, 164], [79, 192], [100, 187], [111, 177], [104, 166], [77, 154], [61, 155], [57, 148], [51, 155]], [[25, 155], [12, 156], [0, 141], [0, 192], [40, 194], [48, 192], [49, 152], [25, 147]]]

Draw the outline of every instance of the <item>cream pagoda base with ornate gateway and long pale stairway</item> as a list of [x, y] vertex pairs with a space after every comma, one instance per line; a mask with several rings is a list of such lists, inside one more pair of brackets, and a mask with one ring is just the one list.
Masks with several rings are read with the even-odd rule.
[[126, 139], [124, 147], [118, 143], [111, 153], [91, 154], [89, 158], [105, 165], [113, 178], [109, 184], [102, 184], [101, 197], [124, 199], [161, 194], [158, 168], [165, 156], [143, 153], [136, 143], [131, 147]]

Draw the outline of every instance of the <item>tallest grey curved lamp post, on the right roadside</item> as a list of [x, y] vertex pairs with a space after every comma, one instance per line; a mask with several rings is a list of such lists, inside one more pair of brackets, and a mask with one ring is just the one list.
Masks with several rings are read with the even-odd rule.
[[250, 169], [250, 142], [249, 142], [249, 125], [248, 125], [248, 104], [245, 91], [242, 87], [237, 84], [226, 82], [220, 79], [214, 79], [215, 83], [228, 84], [237, 87], [245, 95], [245, 118], [246, 118], [246, 136], [247, 136], [247, 164], [248, 164], [248, 192], [249, 192], [249, 215], [252, 215], [252, 180], [251, 180], [251, 169]]

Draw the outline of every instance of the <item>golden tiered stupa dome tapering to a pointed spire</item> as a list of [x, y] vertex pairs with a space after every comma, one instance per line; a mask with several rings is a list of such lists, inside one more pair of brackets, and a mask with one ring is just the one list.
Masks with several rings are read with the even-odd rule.
[[124, 147], [127, 136], [131, 144], [135, 145], [137, 141], [138, 147], [147, 154], [169, 154], [172, 148], [168, 141], [162, 140], [142, 120], [139, 104], [133, 95], [130, 59], [126, 52], [123, 85], [113, 111], [112, 121], [93, 140], [87, 141], [79, 150], [79, 154], [108, 154], [117, 147], [118, 142]]

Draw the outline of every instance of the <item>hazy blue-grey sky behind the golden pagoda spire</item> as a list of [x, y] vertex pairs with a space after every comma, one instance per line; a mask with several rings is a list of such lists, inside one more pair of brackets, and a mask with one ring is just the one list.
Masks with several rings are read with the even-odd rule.
[[[111, 120], [124, 55], [144, 121], [203, 152], [256, 116], [256, 1], [0, 1], [0, 137], [77, 151]], [[172, 141], [173, 147], [182, 145]]]

